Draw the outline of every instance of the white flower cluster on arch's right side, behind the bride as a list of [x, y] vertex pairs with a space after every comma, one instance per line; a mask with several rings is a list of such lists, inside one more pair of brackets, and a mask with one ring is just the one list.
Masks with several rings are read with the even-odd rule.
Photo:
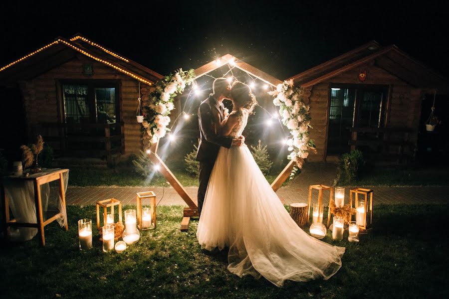
[[[303, 89], [295, 87], [293, 80], [284, 81], [276, 86], [276, 90], [268, 92], [274, 96], [273, 104], [279, 106], [279, 115], [282, 123], [290, 130], [291, 137], [287, 139], [290, 154], [288, 159], [294, 160], [297, 167], [302, 168], [304, 159], [309, 152], [316, 153], [313, 140], [309, 139], [308, 129], [310, 126], [309, 105], [302, 101]], [[298, 169], [293, 168], [294, 175]]]

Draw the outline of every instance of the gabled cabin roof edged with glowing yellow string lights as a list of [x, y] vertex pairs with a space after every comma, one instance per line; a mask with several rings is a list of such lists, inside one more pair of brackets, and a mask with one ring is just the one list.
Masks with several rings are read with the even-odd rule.
[[161, 74], [76, 34], [70, 39], [58, 37], [40, 49], [1, 67], [0, 80], [33, 78], [72, 59], [77, 52], [149, 85], [163, 78]]

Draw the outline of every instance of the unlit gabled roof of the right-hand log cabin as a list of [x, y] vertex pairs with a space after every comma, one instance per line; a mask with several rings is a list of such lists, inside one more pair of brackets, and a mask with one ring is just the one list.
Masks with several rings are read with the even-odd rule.
[[385, 69], [414, 87], [447, 88], [449, 84], [448, 78], [412, 58], [397, 46], [382, 47], [374, 40], [287, 80], [293, 79], [295, 84], [309, 87], [370, 60], [374, 60], [376, 66]]

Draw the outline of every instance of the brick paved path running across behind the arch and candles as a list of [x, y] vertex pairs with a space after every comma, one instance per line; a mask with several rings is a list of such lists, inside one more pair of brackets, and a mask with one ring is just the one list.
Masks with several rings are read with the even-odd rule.
[[[332, 186], [337, 175], [336, 164], [309, 162], [292, 182], [286, 187], [281, 187], [276, 194], [285, 204], [292, 202], [307, 202], [309, 185], [323, 184]], [[70, 183], [70, 178], [69, 178]], [[448, 203], [449, 186], [442, 187], [384, 187], [384, 186], [357, 186], [374, 190], [374, 204], [427, 204]], [[345, 189], [346, 203], [349, 202], [349, 189]], [[185, 187], [192, 199], [197, 200], [197, 187]], [[67, 188], [67, 204], [94, 205], [96, 201], [107, 198], [116, 198], [122, 204], [135, 205], [136, 192], [154, 191], [160, 205], [184, 205], [187, 204], [176, 193], [173, 187], [72, 187]], [[317, 191], [314, 193], [317, 196]], [[329, 204], [329, 193], [323, 195], [324, 205]]]

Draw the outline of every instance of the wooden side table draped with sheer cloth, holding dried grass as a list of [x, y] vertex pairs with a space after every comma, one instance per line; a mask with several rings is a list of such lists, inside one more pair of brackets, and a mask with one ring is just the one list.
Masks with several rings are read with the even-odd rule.
[[[2, 200], [2, 213], [3, 213], [3, 236], [5, 241], [8, 241], [7, 228], [9, 226], [14, 227], [36, 227], [37, 233], [39, 234], [39, 243], [41, 246], [45, 246], [45, 235], [44, 227], [51, 222], [55, 221], [58, 217], [63, 216], [63, 213], [57, 213], [56, 215], [43, 221], [42, 216], [42, 200], [40, 194], [40, 186], [52, 181], [59, 181], [59, 196], [61, 197], [63, 208], [65, 210], [65, 190], [64, 190], [64, 179], [63, 174], [68, 172], [68, 169], [57, 169], [51, 172], [42, 171], [42, 173], [35, 173], [28, 177], [26, 176], [5, 176], [1, 178], [1, 198]], [[32, 180], [34, 186], [34, 204], [36, 205], [36, 219], [37, 223], [23, 223], [17, 222], [16, 219], [9, 218], [9, 203], [8, 198], [5, 193], [5, 185], [7, 187], [7, 182], [10, 180]], [[68, 223], [65, 224], [65, 230], [68, 230]]]

